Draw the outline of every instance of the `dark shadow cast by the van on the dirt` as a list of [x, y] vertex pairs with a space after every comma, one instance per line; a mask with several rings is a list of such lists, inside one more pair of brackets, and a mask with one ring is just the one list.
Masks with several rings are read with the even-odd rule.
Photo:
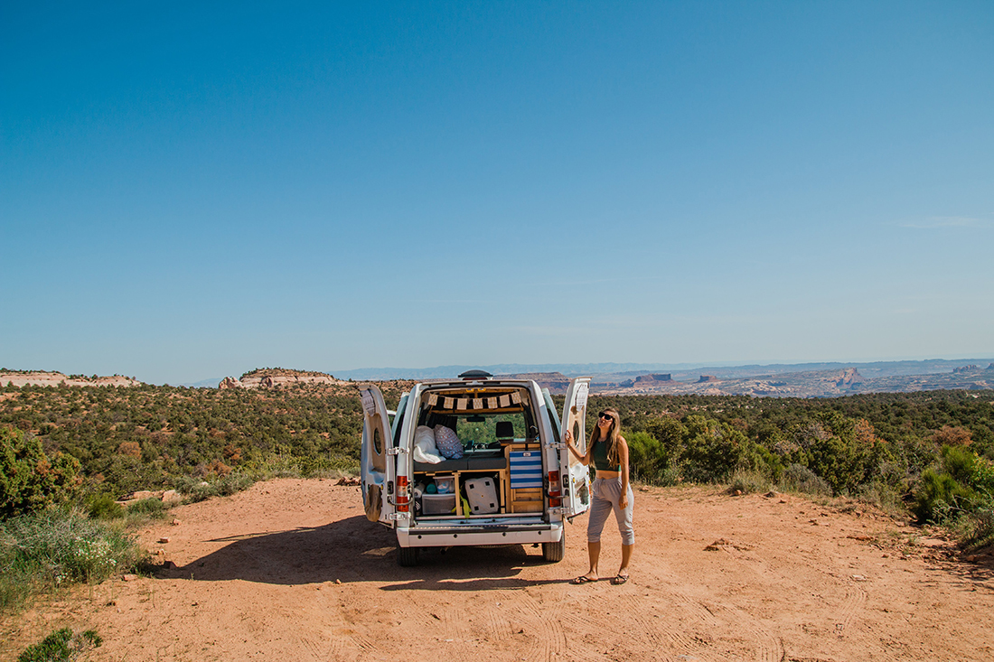
[[[486, 590], [536, 585], [518, 579], [523, 568], [544, 564], [541, 549], [520, 546], [422, 550], [414, 568], [397, 565], [393, 531], [363, 516], [315, 528], [246, 534], [210, 542], [227, 543], [186, 566], [161, 569], [162, 579], [274, 584], [341, 580], [394, 582], [384, 590]], [[565, 579], [564, 579], [565, 580]]]

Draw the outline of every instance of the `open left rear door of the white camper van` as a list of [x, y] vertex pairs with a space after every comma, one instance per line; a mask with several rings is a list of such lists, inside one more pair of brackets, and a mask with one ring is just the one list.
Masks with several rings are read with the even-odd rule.
[[363, 445], [360, 451], [363, 507], [370, 522], [390, 523], [394, 506], [387, 498], [387, 485], [394, 480], [393, 438], [387, 405], [380, 389], [370, 386], [360, 392], [363, 401]]

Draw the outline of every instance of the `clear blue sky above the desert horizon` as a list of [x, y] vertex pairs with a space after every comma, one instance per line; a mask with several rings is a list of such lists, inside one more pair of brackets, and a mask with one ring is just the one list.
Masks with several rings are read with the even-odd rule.
[[994, 353], [994, 3], [0, 5], [0, 366]]

